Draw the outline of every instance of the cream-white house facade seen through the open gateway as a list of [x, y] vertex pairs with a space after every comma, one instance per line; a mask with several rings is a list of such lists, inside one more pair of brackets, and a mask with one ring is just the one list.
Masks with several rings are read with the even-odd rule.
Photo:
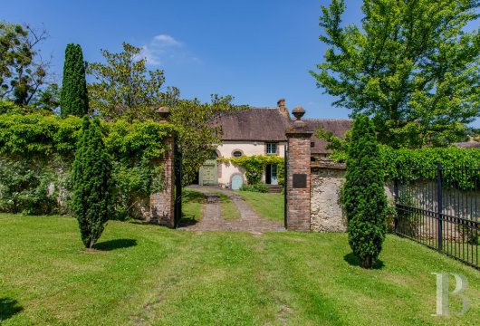
[[[233, 158], [235, 151], [242, 152], [243, 155], [250, 157], [254, 155], [266, 155], [265, 141], [240, 141], [240, 140], [226, 140], [217, 149], [217, 154], [220, 158]], [[275, 142], [277, 144], [277, 154], [280, 157], [285, 156], [286, 141]], [[233, 164], [219, 163], [218, 164], [218, 184], [222, 187], [230, 187], [232, 184], [232, 177], [241, 175], [244, 184], [246, 183], [245, 169], [236, 167]], [[262, 181], [265, 182], [265, 172], [262, 175]]]

